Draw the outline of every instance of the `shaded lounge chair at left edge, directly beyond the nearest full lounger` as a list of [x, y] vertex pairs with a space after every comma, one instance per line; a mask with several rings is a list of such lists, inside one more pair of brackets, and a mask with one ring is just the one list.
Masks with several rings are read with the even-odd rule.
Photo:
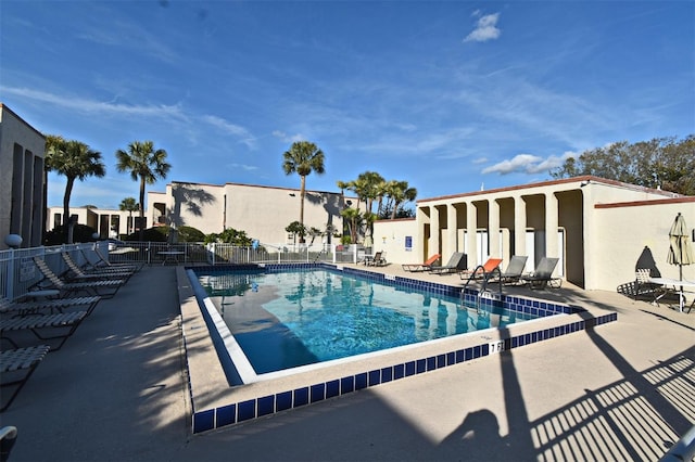
[[[73, 335], [83, 319], [87, 317], [87, 311], [74, 311], [58, 315], [29, 315], [14, 318], [0, 319], [0, 339], [8, 341], [14, 348], [20, 348], [15, 339], [10, 337], [13, 333], [29, 331], [40, 341], [51, 341], [60, 338], [60, 343], [51, 346], [51, 351], [61, 349], [67, 337]], [[62, 331], [58, 335], [45, 336], [42, 331]]]

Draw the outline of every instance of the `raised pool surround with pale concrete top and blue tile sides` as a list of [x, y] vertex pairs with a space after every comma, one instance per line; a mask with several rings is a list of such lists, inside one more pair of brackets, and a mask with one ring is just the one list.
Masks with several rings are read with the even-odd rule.
[[[329, 264], [268, 265], [266, 270], [291, 267], [330, 267], [345, 273], [358, 273], [382, 283], [400, 283], [406, 286], [426, 287], [434, 293], [451, 295], [460, 293], [462, 286], [383, 274], [348, 266]], [[224, 270], [228, 267], [210, 267]], [[382, 383], [402, 380], [446, 367], [519, 348], [557, 336], [593, 329], [616, 321], [616, 312], [593, 315], [586, 309], [541, 298], [504, 295], [508, 303], [522, 304], [523, 309], [553, 309], [561, 315], [541, 318], [503, 329], [485, 330], [454, 337], [440, 338], [424, 344], [399, 348], [354, 361], [341, 361], [317, 370], [300, 372], [271, 381], [230, 387], [194, 288], [187, 270], [177, 268], [177, 286], [181, 307], [181, 329], [188, 365], [189, 393], [192, 405], [192, 433], [247, 422], [289, 411], [293, 408], [358, 392]], [[195, 269], [200, 270], [201, 267]], [[207, 269], [207, 268], [205, 268]], [[477, 293], [477, 291], [476, 291]], [[472, 292], [471, 292], [472, 294]], [[469, 295], [467, 292], [468, 296]], [[481, 298], [481, 303], [498, 303], [496, 294]], [[543, 308], [541, 308], [543, 307]]]

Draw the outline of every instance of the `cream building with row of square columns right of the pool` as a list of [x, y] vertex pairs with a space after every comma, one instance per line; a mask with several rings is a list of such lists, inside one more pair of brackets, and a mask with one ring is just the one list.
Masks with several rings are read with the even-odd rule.
[[[666, 262], [679, 213], [695, 227], [695, 197], [578, 177], [418, 201], [415, 219], [375, 223], [375, 249], [397, 264], [465, 252], [469, 268], [489, 257], [504, 268], [511, 255], [527, 255], [529, 271], [541, 257], [558, 257], [557, 275], [615, 291], [634, 281], [637, 266], [679, 277]], [[695, 265], [683, 277], [695, 281]]]

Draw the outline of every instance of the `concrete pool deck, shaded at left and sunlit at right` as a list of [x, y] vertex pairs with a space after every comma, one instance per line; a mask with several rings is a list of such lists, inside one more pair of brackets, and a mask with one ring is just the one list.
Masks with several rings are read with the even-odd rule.
[[618, 321], [192, 435], [177, 269], [144, 268], [48, 355], [0, 414], [10, 461], [656, 460], [695, 422], [695, 312], [564, 286], [514, 291]]

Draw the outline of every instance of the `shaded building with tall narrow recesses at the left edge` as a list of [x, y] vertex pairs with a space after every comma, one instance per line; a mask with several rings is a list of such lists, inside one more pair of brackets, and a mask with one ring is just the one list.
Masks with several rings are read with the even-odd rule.
[[0, 249], [8, 234], [23, 247], [41, 244], [46, 138], [0, 103]]

